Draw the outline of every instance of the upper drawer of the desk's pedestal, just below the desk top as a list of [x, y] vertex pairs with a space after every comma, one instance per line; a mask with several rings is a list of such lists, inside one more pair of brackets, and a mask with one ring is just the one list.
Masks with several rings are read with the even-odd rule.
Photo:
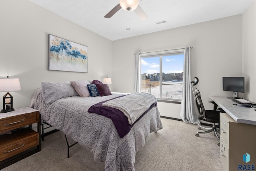
[[229, 146], [229, 121], [223, 113], [220, 113], [220, 136]]

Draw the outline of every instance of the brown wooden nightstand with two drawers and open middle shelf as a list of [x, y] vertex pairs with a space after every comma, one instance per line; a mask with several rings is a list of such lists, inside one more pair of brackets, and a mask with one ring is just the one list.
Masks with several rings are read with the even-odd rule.
[[[32, 124], [37, 123], [37, 132]], [[28, 127], [27, 127], [28, 126]], [[5, 132], [11, 131], [11, 134]], [[0, 113], [0, 169], [41, 151], [41, 117], [39, 111], [22, 107]]]

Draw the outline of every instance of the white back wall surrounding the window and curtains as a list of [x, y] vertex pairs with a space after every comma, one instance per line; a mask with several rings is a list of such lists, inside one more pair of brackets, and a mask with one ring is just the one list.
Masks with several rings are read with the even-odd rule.
[[[134, 91], [135, 52], [152, 52], [193, 46], [191, 74], [199, 78], [206, 109], [210, 95], [232, 96], [222, 91], [223, 76], [242, 76], [242, 15], [113, 41], [113, 89]], [[242, 95], [242, 94], [240, 94]], [[158, 102], [161, 115], [179, 117], [180, 105]]]

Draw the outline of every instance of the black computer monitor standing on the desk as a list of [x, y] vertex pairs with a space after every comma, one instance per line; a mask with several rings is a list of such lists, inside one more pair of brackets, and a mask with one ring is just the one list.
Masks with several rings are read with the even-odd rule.
[[222, 85], [223, 91], [233, 92], [233, 98], [239, 97], [238, 92], [244, 93], [244, 77], [223, 77]]

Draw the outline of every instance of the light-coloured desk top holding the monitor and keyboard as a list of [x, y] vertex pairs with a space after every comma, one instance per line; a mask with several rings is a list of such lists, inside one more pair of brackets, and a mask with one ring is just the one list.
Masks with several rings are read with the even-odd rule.
[[227, 97], [218, 97], [218, 96], [210, 96], [219, 107], [221, 107], [230, 117], [232, 117], [235, 121], [239, 123], [247, 123], [256, 125], [256, 109], [255, 107], [243, 107], [242, 105], [238, 104], [233, 105], [234, 101], [228, 99]]

